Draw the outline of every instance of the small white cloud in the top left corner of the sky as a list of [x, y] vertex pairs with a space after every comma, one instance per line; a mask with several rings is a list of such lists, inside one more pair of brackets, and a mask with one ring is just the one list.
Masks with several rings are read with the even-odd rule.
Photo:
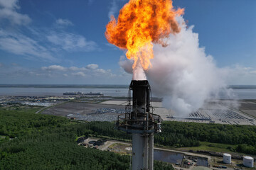
[[12, 24], [26, 25], [31, 22], [26, 14], [21, 14], [16, 11], [20, 8], [18, 0], [0, 0], [0, 20], [6, 19]]

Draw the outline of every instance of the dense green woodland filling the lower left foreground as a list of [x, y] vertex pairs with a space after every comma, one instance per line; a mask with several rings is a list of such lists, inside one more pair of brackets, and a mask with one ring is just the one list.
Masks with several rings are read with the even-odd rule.
[[[0, 109], [0, 125], [4, 128], [0, 135], [6, 136], [0, 141], [0, 169], [129, 169], [129, 156], [85, 148], [75, 142], [80, 135], [97, 135], [102, 126], [107, 127], [104, 132], [113, 128], [111, 123], [97, 124], [73, 123], [67, 118], [34, 114], [33, 110]], [[174, 168], [155, 162], [154, 169]]]

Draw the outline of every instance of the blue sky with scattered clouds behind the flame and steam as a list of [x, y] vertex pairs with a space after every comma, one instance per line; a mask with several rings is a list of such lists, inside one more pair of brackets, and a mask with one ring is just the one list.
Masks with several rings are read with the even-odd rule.
[[[0, 84], [129, 84], [105, 26], [124, 0], [0, 0]], [[218, 67], [255, 84], [256, 1], [174, 0]]]

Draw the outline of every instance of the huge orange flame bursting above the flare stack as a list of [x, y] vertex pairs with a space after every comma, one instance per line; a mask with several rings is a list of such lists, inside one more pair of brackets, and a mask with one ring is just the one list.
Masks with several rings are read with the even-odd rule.
[[164, 38], [179, 33], [175, 16], [183, 12], [183, 8], [174, 10], [171, 0], [130, 0], [119, 11], [117, 21], [111, 16], [105, 36], [113, 45], [127, 49], [127, 58], [134, 60], [133, 69], [139, 61], [146, 70], [154, 57], [153, 43], [164, 47]]

